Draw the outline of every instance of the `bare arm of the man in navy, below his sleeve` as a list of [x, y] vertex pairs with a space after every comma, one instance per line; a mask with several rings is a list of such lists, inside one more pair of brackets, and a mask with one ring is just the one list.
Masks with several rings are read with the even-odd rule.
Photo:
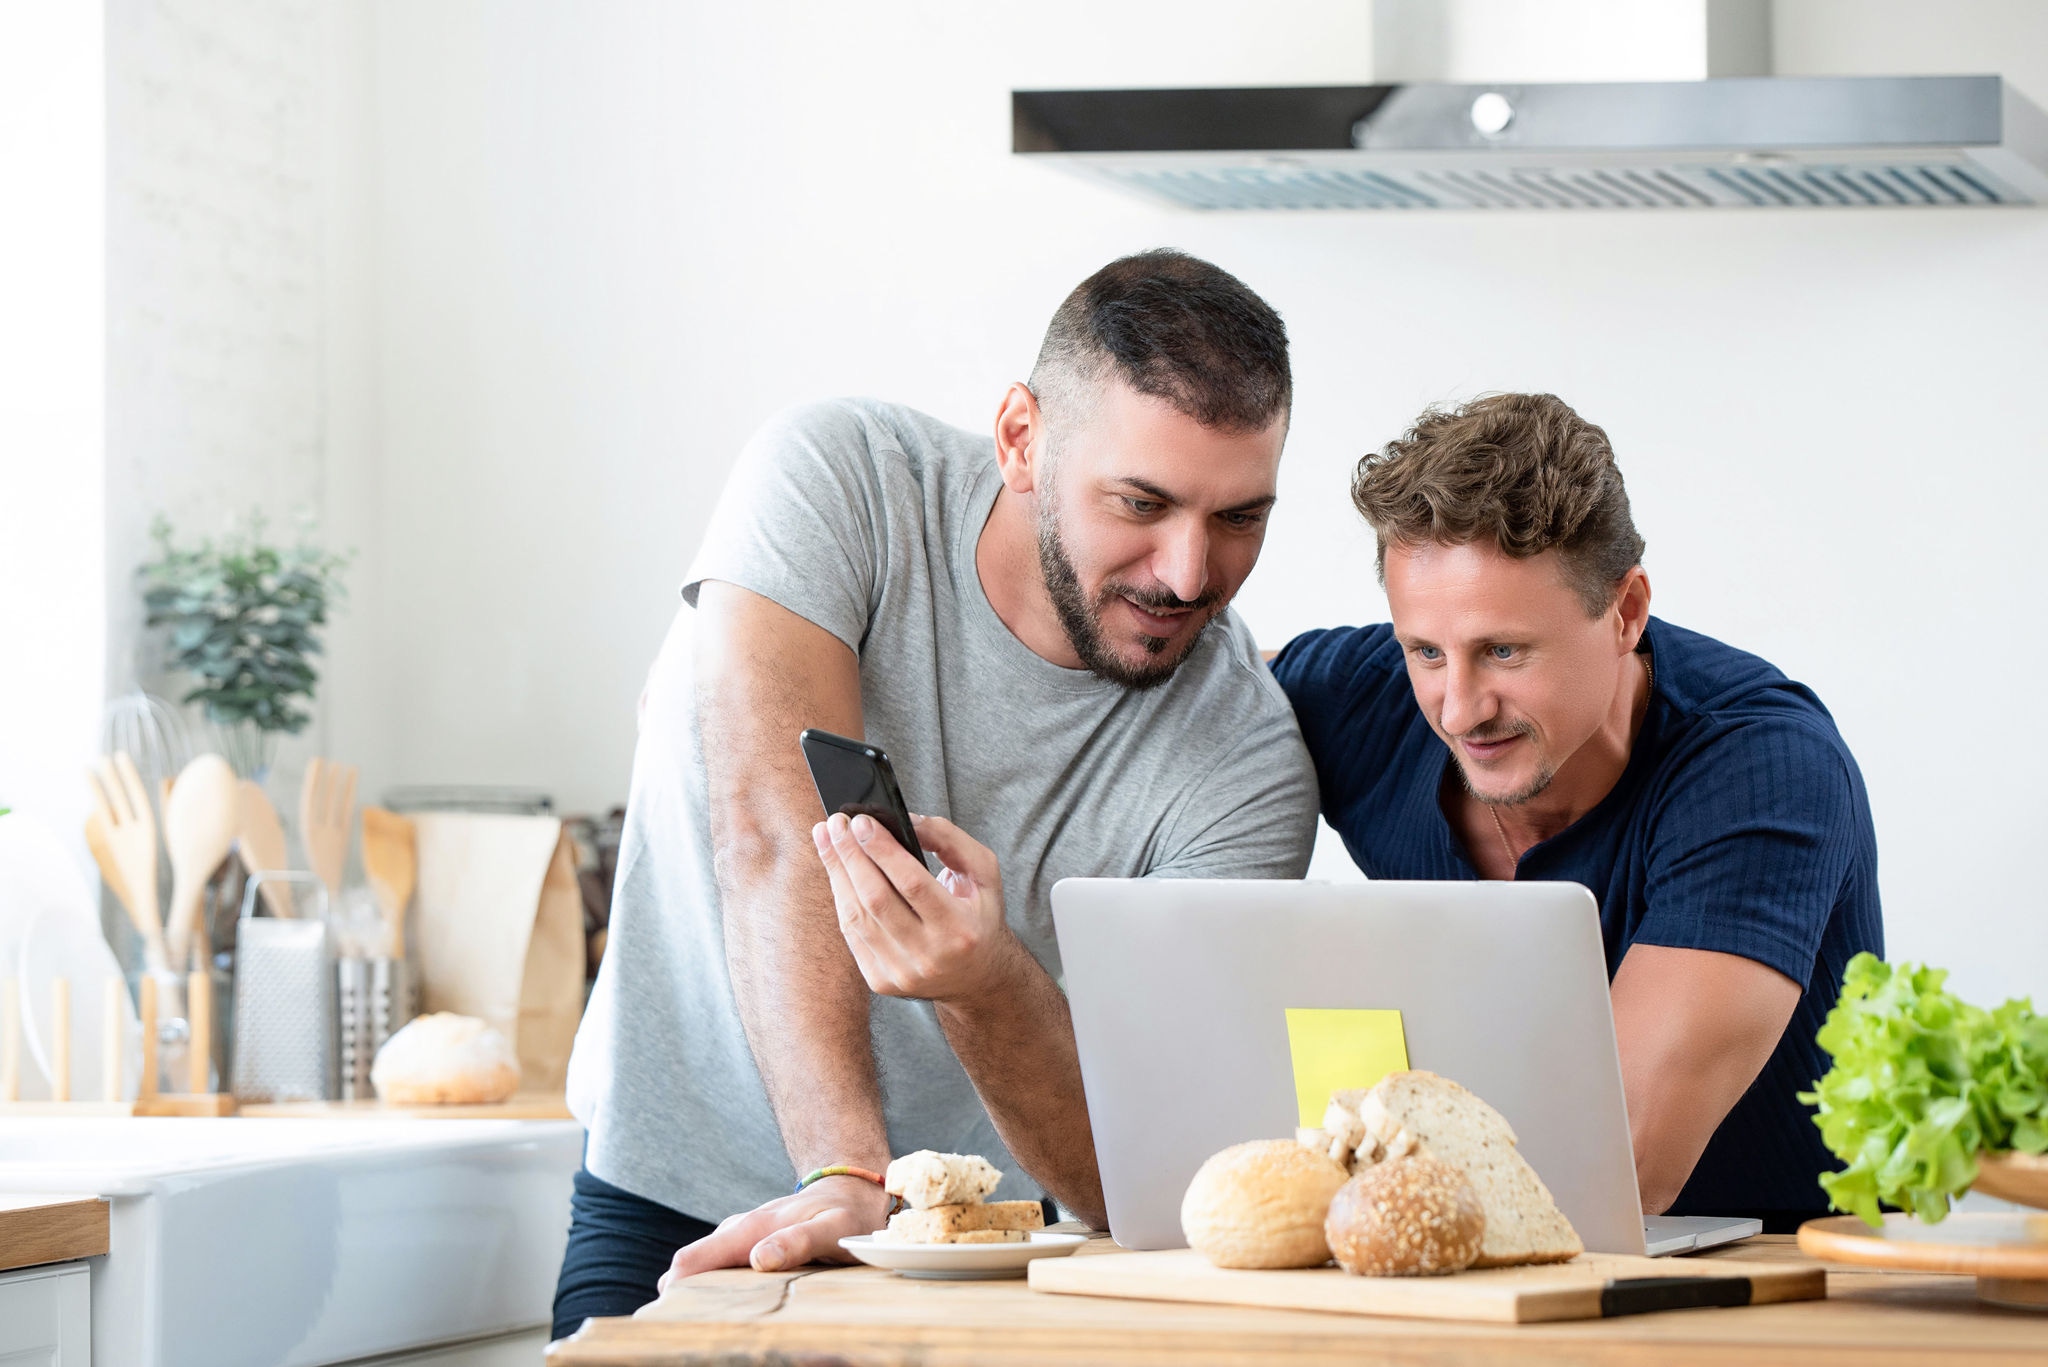
[[1614, 974], [1614, 1035], [1642, 1213], [1677, 1201], [1798, 1008], [1802, 988], [1755, 959], [1630, 945]]

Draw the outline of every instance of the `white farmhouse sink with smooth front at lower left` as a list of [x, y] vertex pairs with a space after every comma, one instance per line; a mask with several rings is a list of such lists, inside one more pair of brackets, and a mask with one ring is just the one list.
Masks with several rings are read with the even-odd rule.
[[315, 1367], [545, 1324], [573, 1121], [6, 1119], [0, 1191], [113, 1201], [92, 1359]]

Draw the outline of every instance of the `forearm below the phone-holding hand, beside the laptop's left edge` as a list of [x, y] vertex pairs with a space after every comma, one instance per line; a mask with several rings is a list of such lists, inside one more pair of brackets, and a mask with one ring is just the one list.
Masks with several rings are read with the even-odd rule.
[[1010, 1154], [1055, 1201], [1104, 1230], [1110, 1221], [1067, 996], [1022, 945], [1012, 945], [1008, 990], [940, 1002], [938, 1025]]

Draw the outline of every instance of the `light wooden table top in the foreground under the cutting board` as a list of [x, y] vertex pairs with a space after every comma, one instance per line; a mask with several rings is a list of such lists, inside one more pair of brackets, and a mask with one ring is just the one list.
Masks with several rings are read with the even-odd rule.
[[[1118, 1250], [1108, 1240], [1096, 1240], [1073, 1256], [1100, 1252]], [[1790, 1236], [1747, 1240], [1718, 1252], [1743, 1260], [1810, 1262]], [[1982, 1306], [1970, 1277], [1835, 1267], [1829, 1267], [1825, 1301], [1516, 1326], [1044, 1295], [1024, 1281], [911, 1281], [870, 1267], [836, 1267], [705, 1273], [678, 1283], [633, 1318], [590, 1320], [578, 1334], [553, 1344], [547, 1361], [553, 1367], [1905, 1367], [1929, 1361], [2042, 1367], [2048, 1363], [2048, 1314]]]

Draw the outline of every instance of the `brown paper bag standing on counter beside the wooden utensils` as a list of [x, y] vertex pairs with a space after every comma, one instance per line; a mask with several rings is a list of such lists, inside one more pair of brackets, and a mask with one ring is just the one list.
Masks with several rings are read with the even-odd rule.
[[420, 1008], [494, 1025], [522, 1092], [561, 1092], [584, 1012], [575, 851], [551, 816], [420, 812]]

